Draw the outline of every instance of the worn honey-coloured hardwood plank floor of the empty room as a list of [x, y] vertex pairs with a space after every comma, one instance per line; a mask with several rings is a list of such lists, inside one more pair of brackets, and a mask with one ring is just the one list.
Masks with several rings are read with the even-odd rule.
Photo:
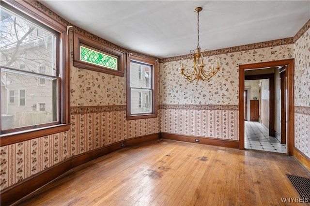
[[[288, 205], [293, 157], [158, 140], [80, 165], [17, 205]], [[292, 205], [295, 203], [291, 203]]]

